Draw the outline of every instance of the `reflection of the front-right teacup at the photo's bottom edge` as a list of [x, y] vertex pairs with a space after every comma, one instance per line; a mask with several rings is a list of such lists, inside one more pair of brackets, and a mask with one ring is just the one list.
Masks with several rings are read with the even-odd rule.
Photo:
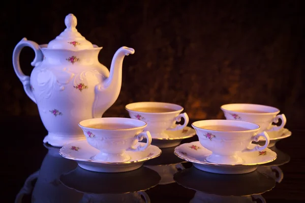
[[191, 199], [190, 203], [201, 203], [201, 202], [226, 202], [226, 203], [256, 203], [256, 200], [260, 199], [260, 202], [265, 203], [266, 200], [262, 197], [262, 195], [253, 195], [253, 196], [221, 196], [216, 194], [207, 194], [204, 192], [196, 191], [193, 199]]

